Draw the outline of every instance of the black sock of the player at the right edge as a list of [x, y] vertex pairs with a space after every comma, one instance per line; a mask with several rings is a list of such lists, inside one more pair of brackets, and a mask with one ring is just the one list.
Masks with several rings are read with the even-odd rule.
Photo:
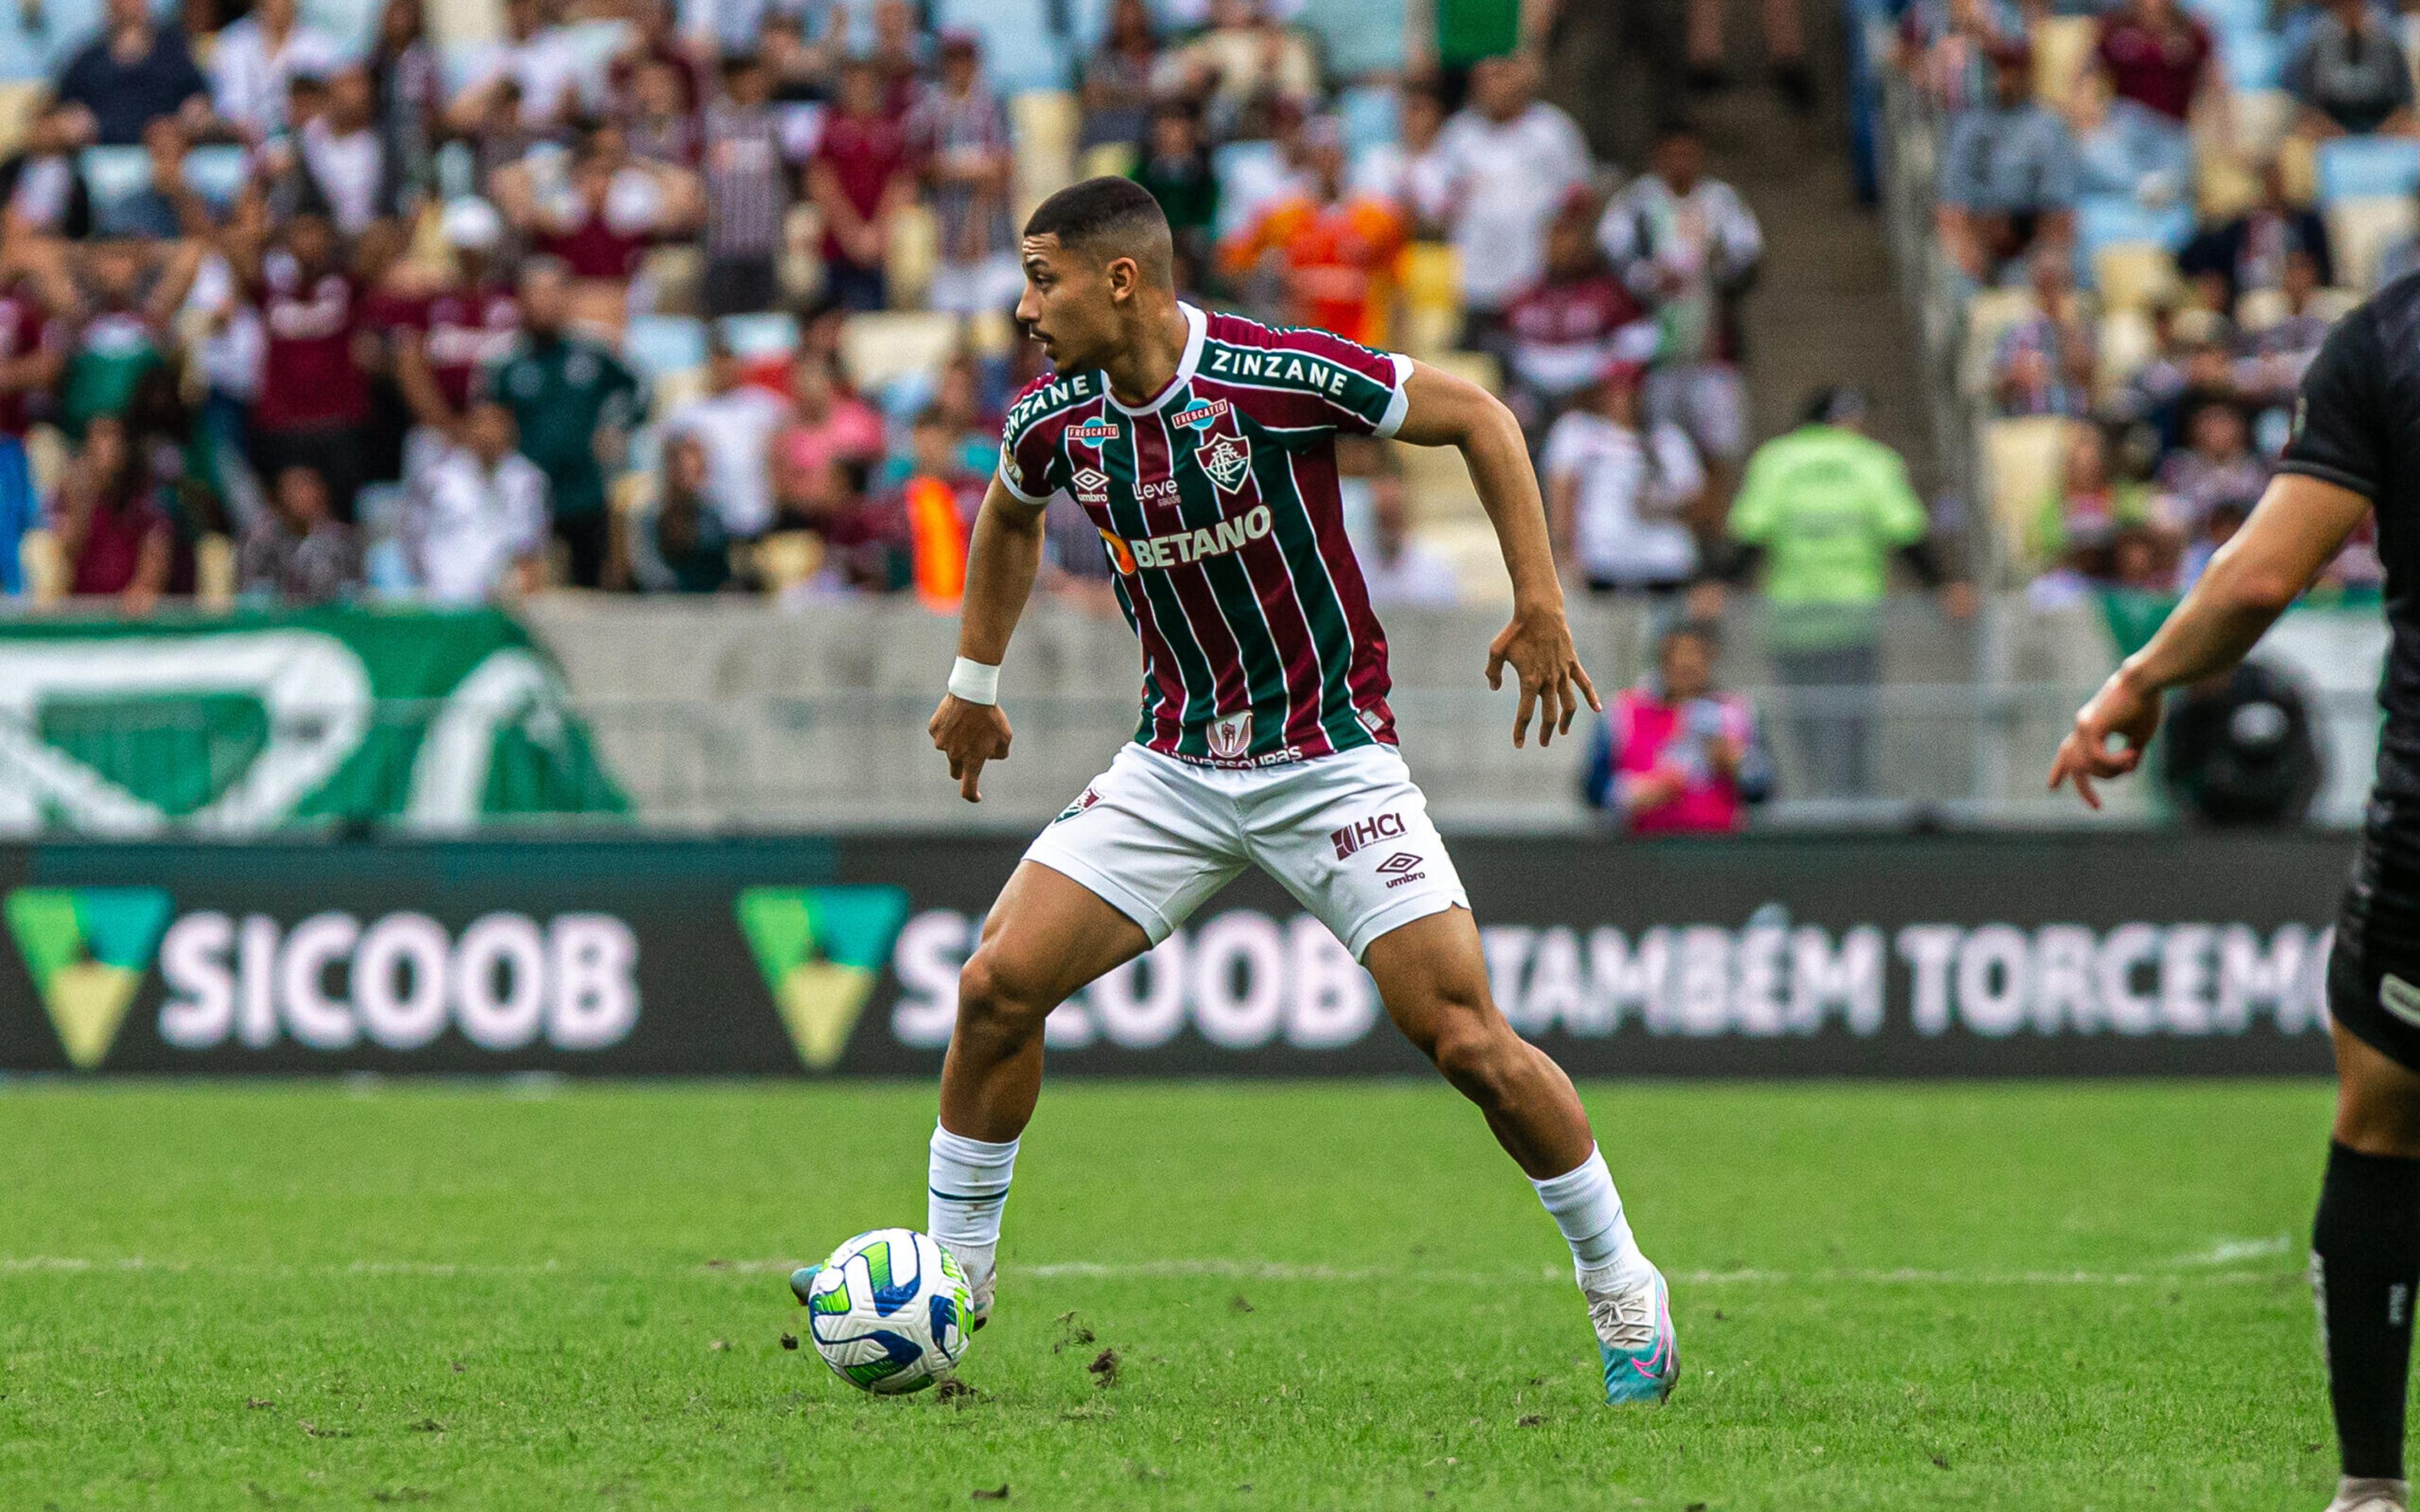
[[2347, 1476], [2403, 1476], [2403, 1391], [2420, 1282], [2420, 1161], [2328, 1147], [2311, 1289]]

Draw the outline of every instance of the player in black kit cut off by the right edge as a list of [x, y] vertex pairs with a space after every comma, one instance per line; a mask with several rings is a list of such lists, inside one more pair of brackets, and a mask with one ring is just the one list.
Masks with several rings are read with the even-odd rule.
[[[2243, 658], [2376, 510], [2393, 646], [2376, 786], [2328, 960], [2335, 1137], [2311, 1229], [2343, 1481], [2328, 1512], [2405, 1512], [2403, 1391], [2420, 1285], [2420, 278], [2347, 314], [2301, 380], [2260, 508], [2185, 602], [2076, 711], [2050, 786], [2125, 777], [2161, 694]], [[2110, 738], [2118, 745], [2110, 745]]]

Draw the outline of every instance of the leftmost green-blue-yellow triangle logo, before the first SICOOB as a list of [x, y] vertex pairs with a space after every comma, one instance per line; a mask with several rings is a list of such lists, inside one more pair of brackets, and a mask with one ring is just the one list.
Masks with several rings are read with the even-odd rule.
[[68, 1062], [109, 1060], [174, 905], [160, 888], [17, 888], [7, 929]]

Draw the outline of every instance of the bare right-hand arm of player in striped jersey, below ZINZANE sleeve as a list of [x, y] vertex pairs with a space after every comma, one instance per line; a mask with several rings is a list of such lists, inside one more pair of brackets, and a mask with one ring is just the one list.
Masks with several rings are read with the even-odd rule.
[[1459, 450], [1479, 489], [1479, 503], [1496, 525], [1505, 571], [1512, 573], [1512, 622], [1488, 644], [1488, 687], [1503, 687], [1505, 663], [1512, 663], [1512, 675], [1520, 680], [1512, 745], [1527, 740], [1532, 706], [1539, 719], [1537, 743], [1546, 745], [1571, 731], [1580, 697], [1590, 709], [1604, 704], [1571, 648], [1563, 583], [1554, 576], [1554, 547], [1546, 537], [1546, 503], [1537, 496], [1537, 474], [1529, 469], [1529, 445], [1522, 440], [1520, 421], [1496, 394], [1428, 363], [1411, 365], [1404, 394], [1396, 440]]

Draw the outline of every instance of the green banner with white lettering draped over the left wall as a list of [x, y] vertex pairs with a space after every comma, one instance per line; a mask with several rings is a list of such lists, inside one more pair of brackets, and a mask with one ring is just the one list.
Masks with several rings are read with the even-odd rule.
[[0, 622], [0, 835], [629, 810], [503, 612]]

